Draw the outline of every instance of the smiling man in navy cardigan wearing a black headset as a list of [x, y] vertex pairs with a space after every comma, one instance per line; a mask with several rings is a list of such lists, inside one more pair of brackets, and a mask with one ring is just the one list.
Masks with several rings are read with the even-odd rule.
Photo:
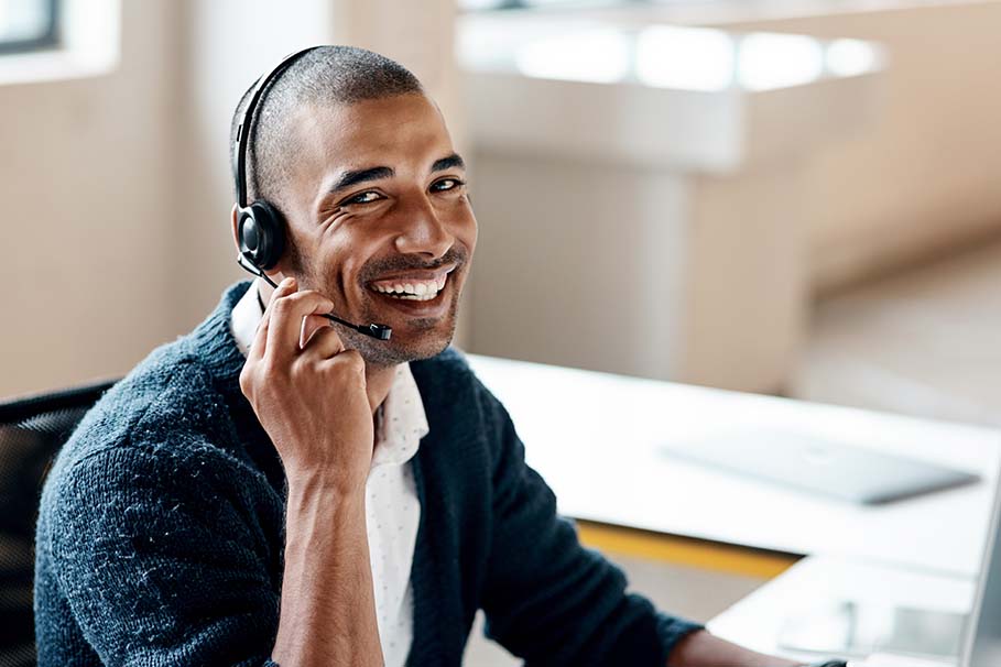
[[792, 665], [627, 594], [448, 349], [476, 220], [413, 75], [319, 47], [269, 78], [237, 109], [235, 167], [280, 211], [284, 250], [260, 266], [280, 283], [230, 287], [61, 452], [40, 665], [458, 665], [478, 609], [530, 665]]

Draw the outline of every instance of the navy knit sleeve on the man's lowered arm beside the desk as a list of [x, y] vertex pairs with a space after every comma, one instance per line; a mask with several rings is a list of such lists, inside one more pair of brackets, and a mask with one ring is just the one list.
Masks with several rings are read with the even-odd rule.
[[584, 548], [556, 499], [524, 460], [507, 411], [486, 389], [493, 425], [493, 529], [483, 610], [487, 634], [534, 665], [664, 667], [700, 625], [627, 593], [621, 570]]

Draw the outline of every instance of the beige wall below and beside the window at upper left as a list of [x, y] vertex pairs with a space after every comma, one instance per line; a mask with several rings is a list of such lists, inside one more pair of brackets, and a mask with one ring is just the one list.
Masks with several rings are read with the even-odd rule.
[[175, 22], [126, 2], [112, 72], [0, 83], [0, 396], [122, 374], [173, 329]]

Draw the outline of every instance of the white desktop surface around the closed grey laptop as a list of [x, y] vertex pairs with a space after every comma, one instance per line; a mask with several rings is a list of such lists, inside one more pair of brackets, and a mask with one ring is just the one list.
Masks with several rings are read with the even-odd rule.
[[[652, 380], [469, 356], [529, 463], [575, 518], [970, 578], [979, 570], [998, 431]], [[662, 456], [657, 442], [788, 429], [980, 474], [979, 484], [862, 507]]]

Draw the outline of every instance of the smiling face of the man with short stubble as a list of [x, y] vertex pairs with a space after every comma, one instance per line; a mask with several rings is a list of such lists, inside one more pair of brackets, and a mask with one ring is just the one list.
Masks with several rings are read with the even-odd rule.
[[302, 109], [300, 152], [282, 212], [289, 245], [278, 269], [357, 324], [393, 329], [380, 341], [337, 328], [366, 361], [392, 365], [444, 350], [476, 247], [465, 166], [423, 95]]

